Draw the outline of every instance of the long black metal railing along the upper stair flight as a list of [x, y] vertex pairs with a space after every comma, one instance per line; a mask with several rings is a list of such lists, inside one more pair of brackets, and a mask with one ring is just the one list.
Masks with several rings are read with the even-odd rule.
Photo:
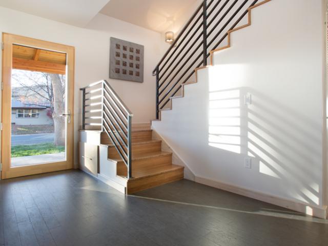
[[207, 66], [210, 51], [227, 40], [258, 0], [204, 0], [182, 28], [153, 71], [156, 76], [156, 119], [171, 97], [181, 92], [195, 69]]

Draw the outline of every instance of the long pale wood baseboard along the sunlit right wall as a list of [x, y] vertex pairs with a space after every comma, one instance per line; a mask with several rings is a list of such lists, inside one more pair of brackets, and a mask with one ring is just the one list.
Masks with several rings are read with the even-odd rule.
[[195, 182], [202, 183], [203, 185], [211, 186], [220, 190], [229, 191], [238, 195], [250, 197], [256, 200], [268, 202], [282, 208], [294, 210], [318, 218], [322, 218], [322, 219], [327, 218], [327, 212], [328, 212], [327, 206], [323, 206], [323, 207], [313, 206], [310, 204], [297, 202], [282, 197], [272, 196], [258, 191], [244, 189], [238, 186], [230, 185], [228, 183], [223, 183], [199, 176], [195, 177]]

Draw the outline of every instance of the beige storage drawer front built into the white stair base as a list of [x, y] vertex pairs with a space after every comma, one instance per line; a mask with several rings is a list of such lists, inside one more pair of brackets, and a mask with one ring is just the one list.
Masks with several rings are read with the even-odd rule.
[[97, 175], [99, 171], [98, 165], [99, 147], [97, 145], [79, 142], [79, 164], [80, 169]]

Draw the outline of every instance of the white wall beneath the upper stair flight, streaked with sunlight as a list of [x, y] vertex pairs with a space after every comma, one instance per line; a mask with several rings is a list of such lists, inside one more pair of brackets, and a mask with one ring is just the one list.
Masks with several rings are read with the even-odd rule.
[[322, 30], [320, 0], [254, 9], [252, 26], [232, 34], [232, 48], [215, 53], [154, 129], [195, 176], [323, 206]]

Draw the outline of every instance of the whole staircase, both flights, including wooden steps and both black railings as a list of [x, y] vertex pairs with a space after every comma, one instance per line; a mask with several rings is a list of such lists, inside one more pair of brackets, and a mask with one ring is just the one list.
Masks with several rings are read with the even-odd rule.
[[[173, 98], [183, 97], [186, 85], [197, 82], [198, 69], [213, 65], [214, 52], [230, 47], [231, 32], [251, 25], [251, 10], [269, 1], [203, 0], [153, 71], [156, 120], [160, 120], [162, 110], [172, 108]], [[174, 165], [172, 153], [162, 151], [162, 142], [153, 139], [150, 125], [132, 125], [133, 114], [108, 81], [101, 80], [80, 90], [80, 140], [92, 142], [97, 147], [90, 149], [99, 153], [87, 156], [88, 150], [84, 149], [80, 162], [90, 162], [95, 176], [127, 194], [183, 178], [184, 167]], [[105, 152], [99, 151], [104, 148]]]

